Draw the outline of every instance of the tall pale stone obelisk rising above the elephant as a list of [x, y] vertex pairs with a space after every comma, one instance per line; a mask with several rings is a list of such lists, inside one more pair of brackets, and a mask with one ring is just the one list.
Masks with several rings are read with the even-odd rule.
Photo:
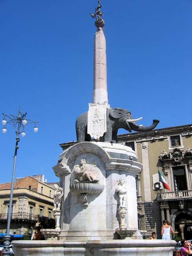
[[107, 102], [107, 62], [106, 42], [102, 28], [98, 28], [94, 37], [93, 60], [93, 103]]

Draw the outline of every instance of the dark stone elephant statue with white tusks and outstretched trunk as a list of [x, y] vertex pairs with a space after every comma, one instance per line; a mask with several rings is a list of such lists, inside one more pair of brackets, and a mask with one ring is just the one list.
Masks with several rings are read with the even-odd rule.
[[[91, 137], [87, 134], [87, 117], [88, 112], [85, 112], [76, 120], [76, 134], [77, 141], [90, 141]], [[100, 141], [104, 142], [117, 142], [117, 132], [118, 129], [124, 128], [125, 130], [131, 132], [147, 132], [153, 130], [159, 120], [153, 120], [153, 124], [150, 126], [140, 126], [135, 122], [142, 119], [133, 119], [131, 112], [124, 108], [108, 108], [107, 109], [107, 132], [104, 133], [103, 137], [100, 138]]]

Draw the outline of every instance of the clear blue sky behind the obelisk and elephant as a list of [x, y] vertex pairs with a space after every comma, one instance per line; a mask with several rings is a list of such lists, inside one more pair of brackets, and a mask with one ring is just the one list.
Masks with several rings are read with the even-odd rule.
[[[101, 0], [111, 107], [157, 128], [192, 123], [192, 0]], [[20, 140], [16, 176], [44, 174], [59, 143], [76, 140], [75, 121], [92, 102], [96, 0], [0, 0], [1, 113], [39, 121]], [[121, 130], [121, 133], [127, 131]], [[0, 133], [1, 182], [11, 180], [15, 134]]]

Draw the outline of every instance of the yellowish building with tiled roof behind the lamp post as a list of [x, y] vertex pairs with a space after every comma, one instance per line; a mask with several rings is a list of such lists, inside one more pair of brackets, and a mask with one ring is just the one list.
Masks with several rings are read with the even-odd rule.
[[[0, 184], [0, 233], [6, 232], [11, 183]], [[13, 190], [10, 233], [24, 234], [28, 226], [55, 228], [53, 183], [44, 175], [17, 178]]]

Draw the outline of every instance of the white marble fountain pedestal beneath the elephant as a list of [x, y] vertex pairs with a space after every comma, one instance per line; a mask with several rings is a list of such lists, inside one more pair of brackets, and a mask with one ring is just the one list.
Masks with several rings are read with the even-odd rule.
[[[82, 165], [82, 161], [85, 161], [85, 165]], [[122, 220], [118, 212], [125, 209], [119, 208], [121, 197], [126, 205], [123, 227], [127, 230], [127, 237], [142, 237], [138, 234], [135, 181], [142, 164], [138, 163], [135, 151], [130, 147], [104, 142], [77, 143], [63, 151], [53, 169], [60, 178], [64, 193], [60, 239], [120, 238], [117, 229], [122, 227]], [[86, 169], [98, 181], [82, 181], [78, 176], [81, 169]], [[122, 196], [116, 192], [120, 179], [124, 180], [126, 186]]]

